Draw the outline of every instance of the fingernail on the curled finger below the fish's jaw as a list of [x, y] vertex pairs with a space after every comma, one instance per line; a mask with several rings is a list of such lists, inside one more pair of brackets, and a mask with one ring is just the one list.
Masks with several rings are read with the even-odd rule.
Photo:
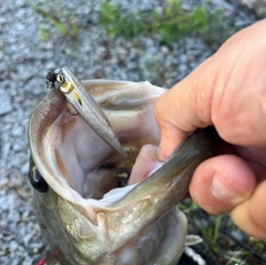
[[225, 179], [215, 174], [212, 182], [212, 192], [218, 200], [227, 201], [237, 197], [236, 191], [233, 191]]

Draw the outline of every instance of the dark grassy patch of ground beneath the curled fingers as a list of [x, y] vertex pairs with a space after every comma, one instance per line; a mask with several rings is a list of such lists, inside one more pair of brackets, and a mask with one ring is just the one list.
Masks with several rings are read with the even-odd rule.
[[178, 207], [188, 218], [188, 234], [203, 237], [203, 243], [194, 248], [207, 264], [266, 264], [265, 242], [242, 232], [228, 215], [209, 215], [192, 200], [183, 201]]

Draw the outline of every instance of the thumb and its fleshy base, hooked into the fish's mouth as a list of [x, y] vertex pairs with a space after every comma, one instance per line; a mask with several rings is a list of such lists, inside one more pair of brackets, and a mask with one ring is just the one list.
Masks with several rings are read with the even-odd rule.
[[156, 102], [158, 157], [165, 160], [186, 132], [214, 125], [221, 137], [266, 146], [266, 20], [231, 37], [221, 49]]

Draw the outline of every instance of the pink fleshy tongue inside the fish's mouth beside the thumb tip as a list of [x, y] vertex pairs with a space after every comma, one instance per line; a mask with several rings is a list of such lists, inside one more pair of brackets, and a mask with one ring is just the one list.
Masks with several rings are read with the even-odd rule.
[[132, 167], [127, 185], [142, 182], [163, 165], [163, 162], [157, 160], [157, 146], [152, 144], [142, 146], [141, 152], [136, 157], [136, 162]]

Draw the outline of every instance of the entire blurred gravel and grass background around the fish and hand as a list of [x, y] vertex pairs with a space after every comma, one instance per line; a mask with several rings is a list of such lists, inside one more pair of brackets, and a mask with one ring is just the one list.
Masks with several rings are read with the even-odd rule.
[[[244, 2], [245, 4], [243, 4]], [[252, 3], [252, 4], [250, 4]], [[28, 121], [45, 73], [150, 81], [171, 88], [234, 32], [265, 16], [265, 1], [4, 0], [0, 2], [0, 264], [35, 264], [47, 249], [31, 207]], [[190, 200], [190, 233], [208, 264], [266, 264], [264, 242]]]

